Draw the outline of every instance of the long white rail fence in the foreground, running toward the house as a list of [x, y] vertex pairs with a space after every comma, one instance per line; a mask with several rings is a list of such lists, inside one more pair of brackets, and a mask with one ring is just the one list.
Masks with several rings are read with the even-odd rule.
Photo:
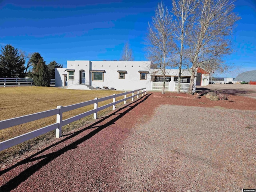
[[[136, 93], [136, 94], [134, 94], [134, 93]], [[132, 96], [127, 97], [127, 94], [132, 94]], [[38, 112], [38, 113], [25, 115], [25, 116], [20, 116], [20, 117], [16, 117], [16, 118], [12, 118], [12, 119], [2, 120], [2, 121], [0, 121], [0, 130], [56, 115], [56, 123], [54, 123], [54, 124], [51, 124], [51, 125], [45, 126], [43, 128], [39, 128], [37, 130], [28, 132], [26, 134], [22, 134], [20, 136], [16, 136], [14, 138], [0, 142], [0, 151], [7, 149], [9, 147], [12, 147], [14, 145], [20, 144], [22, 142], [25, 142], [27, 140], [30, 140], [32, 138], [35, 138], [37, 136], [40, 136], [42, 134], [45, 134], [47, 132], [50, 132], [54, 129], [56, 130], [56, 138], [59, 138], [60, 136], [62, 136], [62, 126], [69, 124], [71, 122], [74, 122], [76, 120], [79, 120], [81, 118], [84, 118], [90, 114], [94, 114], [94, 119], [96, 119], [97, 112], [99, 112], [100, 110], [106, 109], [111, 106], [113, 107], [113, 110], [115, 110], [116, 104], [118, 104], [120, 102], [124, 102], [124, 104], [126, 104], [126, 100], [132, 99], [132, 101], [133, 101], [134, 97], [139, 98], [140, 94], [141, 94], [141, 96], [143, 96], [143, 94], [146, 95], [146, 88], [133, 90], [133, 91], [129, 91], [129, 92], [124, 92], [124, 93], [120, 93], [120, 94], [113, 94], [113, 95], [102, 97], [102, 98], [94, 98], [94, 100], [89, 100], [86, 102], [81, 102], [81, 103], [73, 104], [73, 105], [69, 105], [69, 106], [64, 106], [64, 107], [57, 106], [56, 109]], [[120, 97], [120, 96], [124, 96], [124, 98], [116, 101], [116, 98]], [[106, 104], [104, 106], [98, 107], [99, 102], [106, 101], [109, 99], [113, 99], [113, 102]], [[94, 109], [92, 109], [90, 111], [86, 111], [82, 114], [70, 117], [68, 119], [62, 120], [62, 113], [70, 111], [70, 110], [78, 109], [81, 107], [85, 107], [85, 106], [88, 106], [91, 104], [94, 104]]]

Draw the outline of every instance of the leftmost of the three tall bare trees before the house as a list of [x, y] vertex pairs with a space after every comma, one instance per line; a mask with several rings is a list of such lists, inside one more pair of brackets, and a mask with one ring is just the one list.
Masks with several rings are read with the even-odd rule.
[[155, 10], [155, 16], [152, 18], [152, 24], [148, 23], [148, 34], [146, 44], [148, 45], [147, 58], [154, 63], [157, 72], [164, 78], [162, 94], [164, 94], [166, 82], [166, 67], [171, 66], [173, 41], [172, 30], [170, 28], [171, 17], [164, 4], [158, 3]]

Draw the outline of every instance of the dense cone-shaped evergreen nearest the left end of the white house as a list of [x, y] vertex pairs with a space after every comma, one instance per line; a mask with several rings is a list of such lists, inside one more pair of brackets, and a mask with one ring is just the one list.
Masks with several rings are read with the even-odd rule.
[[34, 70], [33, 80], [35, 86], [50, 86], [50, 75], [48, 67], [42, 58], [39, 59], [38, 64], [36, 64], [36, 69]]

